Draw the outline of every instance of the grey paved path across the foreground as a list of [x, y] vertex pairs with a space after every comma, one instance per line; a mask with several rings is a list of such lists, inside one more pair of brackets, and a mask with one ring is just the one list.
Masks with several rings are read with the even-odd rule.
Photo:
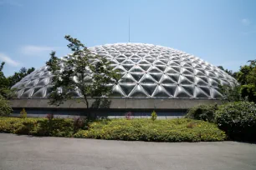
[[256, 145], [36, 138], [0, 133], [0, 169], [255, 170]]

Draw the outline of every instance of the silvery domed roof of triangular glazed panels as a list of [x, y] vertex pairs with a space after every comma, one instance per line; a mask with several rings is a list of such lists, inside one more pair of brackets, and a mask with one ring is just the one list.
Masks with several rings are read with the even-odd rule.
[[[236, 80], [202, 59], [142, 43], [115, 43], [90, 47], [110, 60], [122, 77], [113, 85], [112, 97], [205, 98], [222, 97], [218, 82], [233, 86]], [[41, 67], [15, 84], [19, 98], [45, 98], [51, 88], [48, 67]]]

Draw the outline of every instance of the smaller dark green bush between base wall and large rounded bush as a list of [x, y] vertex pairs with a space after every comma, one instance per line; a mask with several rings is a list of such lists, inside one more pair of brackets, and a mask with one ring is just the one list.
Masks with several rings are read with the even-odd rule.
[[217, 104], [211, 105], [199, 105], [197, 107], [192, 107], [187, 112], [185, 117], [203, 120], [207, 122], [214, 122], [215, 112], [218, 110]]

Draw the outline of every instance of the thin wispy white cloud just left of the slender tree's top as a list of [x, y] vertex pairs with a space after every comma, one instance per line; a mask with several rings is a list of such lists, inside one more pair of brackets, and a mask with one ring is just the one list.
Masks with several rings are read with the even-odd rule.
[[60, 49], [62, 47], [47, 47], [47, 46], [23, 46], [21, 47], [20, 52], [27, 56], [38, 56], [44, 52], [51, 52], [55, 51], [57, 49]]

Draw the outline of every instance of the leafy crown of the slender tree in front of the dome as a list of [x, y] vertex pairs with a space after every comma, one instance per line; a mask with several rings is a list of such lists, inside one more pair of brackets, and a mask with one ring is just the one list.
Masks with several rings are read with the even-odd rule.
[[117, 82], [120, 76], [105, 57], [92, 54], [76, 38], [65, 38], [70, 42], [68, 47], [73, 53], [59, 59], [52, 52], [49, 62], [46, 62], [49, 70], [54, 72], [50, 104], [59, 105], [79, 92], [89, 108], [88, 97], [109, 96], [111, 88], [106, 85]]

